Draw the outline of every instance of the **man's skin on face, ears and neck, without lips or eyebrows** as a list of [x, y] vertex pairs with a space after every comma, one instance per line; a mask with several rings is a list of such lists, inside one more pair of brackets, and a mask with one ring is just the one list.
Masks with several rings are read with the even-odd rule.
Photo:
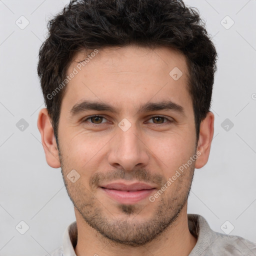
[[[68, 74], [86, 54], [80, 51], [75, 55]], [[183, 73], [178, 80], [169, 75], [174, 67]], [[53, 168], [61, 166], [74, 204], [77, 255], [150, 252], [182, 256], [194, 247], [196, 237], [187, 224], [187, 196], [194, 168], [201, 168], [208, 160], [214, 115], [208, 112], [201, 122], [196, 143], [187, 72], [184, 56], [170, 48], [107, 47], [66, 85], [59, 148], [47, 110], [41, 109], [37, 126], [46, 161]], [[71, 108], [83, 100], [108, 103], [117, 112], [87, 110], [72, 115]], [[137, 113], [141, 104], [164, 100], [182, 106], [184, 113], [172, 109]], [[103, 118], [86, 119], [94, 114]], [[157, 119], [158, 115], [162, 118]], [[131, 125], [126, 131], [118, 126], [123, 118]], [[100, 188], [112, 181], [142, 181], [155, 187], [150, 194], [154, 195], [197, 151], [197, 159], [153, 202], [146, 197], [136, 203], [120, 203]], [[72, 169], [80, 175], [74, 183], [67, 177]]]

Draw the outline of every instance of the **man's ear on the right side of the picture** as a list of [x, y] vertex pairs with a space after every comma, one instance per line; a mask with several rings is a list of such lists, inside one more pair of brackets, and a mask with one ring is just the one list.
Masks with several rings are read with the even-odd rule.
[[209, 111], [200, 124], [199, 139], [197, 142], [197, 151], [200, 153], [198, 153], [198, 157], [195, 160], [195, 168], [201, 168], [208, 161], [213, 133], [214, 114]]

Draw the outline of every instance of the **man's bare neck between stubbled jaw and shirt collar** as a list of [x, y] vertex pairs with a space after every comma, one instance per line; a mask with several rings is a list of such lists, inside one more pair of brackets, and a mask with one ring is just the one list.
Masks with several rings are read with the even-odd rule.
[[187, 222], [187, 204], [182, 208], [176, 220], [166, 227], [155, 239], [147, 244], [131, 247], [116, 243], [103, 237], [98, 231], [89, 226], [81, 217], [76, 208], [77, 244], [75, 253], [82, 255], [144, 256], [148, 252], [161, 256], [187, 256], [196, 244], [197, 239], [189, 232]]

